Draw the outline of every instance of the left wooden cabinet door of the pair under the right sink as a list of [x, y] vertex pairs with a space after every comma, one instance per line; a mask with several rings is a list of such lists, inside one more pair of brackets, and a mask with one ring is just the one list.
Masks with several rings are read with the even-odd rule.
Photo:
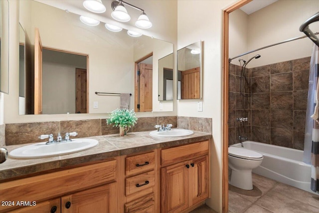
[[161, 212], [188, 208], [188, 161], [161, 168]]

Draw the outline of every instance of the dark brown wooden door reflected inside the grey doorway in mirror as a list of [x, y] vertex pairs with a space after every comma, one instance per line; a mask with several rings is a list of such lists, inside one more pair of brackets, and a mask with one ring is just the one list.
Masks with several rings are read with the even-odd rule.
[[86, 69], [76, 68], [76, 97], [75, 112], [87, 113], [87, 72]]

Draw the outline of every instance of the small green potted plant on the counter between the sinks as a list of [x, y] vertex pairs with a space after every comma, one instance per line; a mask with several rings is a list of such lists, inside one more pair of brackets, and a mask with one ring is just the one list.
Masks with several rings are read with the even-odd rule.
[[106, 119], [107, 124], [113, 124], [114, 127], [120, 128], [120, 136], [126, 135], [130, 127], [134, 126], [138, 118], [134, 110], [115, 109], [111, 112], [110, 118]]

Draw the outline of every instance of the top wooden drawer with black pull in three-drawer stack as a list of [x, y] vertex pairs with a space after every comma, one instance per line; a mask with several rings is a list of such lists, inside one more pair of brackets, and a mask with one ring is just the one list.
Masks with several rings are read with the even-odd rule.
[[155, 168], [155, 152], [126, 158], [126, 175], [134, 175]]

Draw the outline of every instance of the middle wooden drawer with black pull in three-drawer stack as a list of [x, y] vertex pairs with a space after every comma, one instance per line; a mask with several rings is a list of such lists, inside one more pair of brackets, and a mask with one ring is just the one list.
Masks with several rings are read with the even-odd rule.
[[126, 179], [126, 196], [148, 189], [155, 185], [155, 171], [143, 173]]

